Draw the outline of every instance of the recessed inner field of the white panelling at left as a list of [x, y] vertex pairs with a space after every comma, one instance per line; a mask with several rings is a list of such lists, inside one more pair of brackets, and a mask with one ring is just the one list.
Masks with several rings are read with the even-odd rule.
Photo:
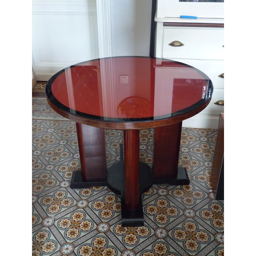
[[37, 64], [68, 64], [97, 55], [95, 14], [35, 14]]

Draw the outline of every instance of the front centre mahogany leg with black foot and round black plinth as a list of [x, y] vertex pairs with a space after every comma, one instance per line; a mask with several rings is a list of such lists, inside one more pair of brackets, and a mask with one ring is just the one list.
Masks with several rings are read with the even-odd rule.
[[144, 226], [141, 194], [153, 184], [152, 169], [139, 162], [139, 135], [139, 130], [124, 131], [120, 162], [108, 169], [108, 187], [121, 195], [123, 227]]

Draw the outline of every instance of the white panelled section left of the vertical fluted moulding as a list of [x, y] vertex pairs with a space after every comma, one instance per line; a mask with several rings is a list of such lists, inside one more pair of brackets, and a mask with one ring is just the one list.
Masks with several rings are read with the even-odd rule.
[[32, 66], [38, 81], [48, 81], [63, 68], [96, 58], [96, 0], [32, 1]]

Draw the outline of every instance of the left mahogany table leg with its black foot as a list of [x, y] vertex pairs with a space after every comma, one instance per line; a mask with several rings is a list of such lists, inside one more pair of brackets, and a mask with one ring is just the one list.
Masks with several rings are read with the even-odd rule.
[[104, 129], [76, 123], [81, 171], [72, 175], [71, 188], [107, 186]]

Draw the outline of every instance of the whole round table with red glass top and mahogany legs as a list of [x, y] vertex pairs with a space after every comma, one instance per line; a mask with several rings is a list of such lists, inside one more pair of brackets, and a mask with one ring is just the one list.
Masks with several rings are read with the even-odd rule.
[[[49, 105], [76, 122], [81, 171], [71, 188], [109, 186], [121, 195], [122, 225], [143, 226], [141, 193], [152, 184], [189, 184], [178, 168], [182, 120], [210, 102], [208, 76], [184, 63], [140, 56], [89, 60], [46, 85]], [[106, 167], [104, 128], [123, 130], [120, 162]], [[139, 130], [155, 128], [151, 169], [139, 162]]]

